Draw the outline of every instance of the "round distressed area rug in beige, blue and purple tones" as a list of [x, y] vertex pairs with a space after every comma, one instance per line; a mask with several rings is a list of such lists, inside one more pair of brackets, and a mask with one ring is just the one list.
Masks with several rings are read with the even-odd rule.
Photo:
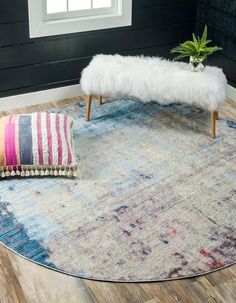
[[0, 241], [107, 281], [197, 276], [236, 261], [236, 123], [132, 100], [53, 109], [75, 119], [79, 178], [0, 181]]

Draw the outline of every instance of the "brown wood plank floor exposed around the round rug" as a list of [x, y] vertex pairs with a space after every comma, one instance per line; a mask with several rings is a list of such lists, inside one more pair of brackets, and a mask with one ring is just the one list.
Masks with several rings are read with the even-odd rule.
[[[236, 103], [227, 101], [220, 116], [236, 119]], [[105, 283], [56, 273], [0, 245], [0, 303], [18, 302], [236, 303], [236, 265], [206, 276], [171, 282]]]

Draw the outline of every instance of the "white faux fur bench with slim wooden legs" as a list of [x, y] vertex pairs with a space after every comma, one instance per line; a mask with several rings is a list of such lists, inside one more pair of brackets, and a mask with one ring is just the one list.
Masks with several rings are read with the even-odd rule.
[[223, 104], [227, 80], [221, 69], [207, 66], [191, 72], [188, 64], [158, 57], [97, 55], [82, 72], [87, 95], [86, 120], [90, 120], [92, 96], [135, 97], [143, 102], [186, 103], [211, 112], [211, 136], [216, 136], [218, 109]]

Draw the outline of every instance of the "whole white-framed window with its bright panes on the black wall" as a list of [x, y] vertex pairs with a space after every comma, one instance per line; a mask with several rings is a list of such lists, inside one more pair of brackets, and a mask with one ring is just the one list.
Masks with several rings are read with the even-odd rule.
[[28, 0], [30, 37], [129, 26], [132, 0]]

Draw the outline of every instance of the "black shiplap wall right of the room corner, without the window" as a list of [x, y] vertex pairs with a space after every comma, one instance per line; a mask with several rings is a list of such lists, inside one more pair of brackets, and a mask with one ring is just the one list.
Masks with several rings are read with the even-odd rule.
[[208, 63], [223, 68], [228, 82], [236, 87], [236, 0], [198, 0], [196, 31], [208, 25], [209, 37], [224, 48]]

